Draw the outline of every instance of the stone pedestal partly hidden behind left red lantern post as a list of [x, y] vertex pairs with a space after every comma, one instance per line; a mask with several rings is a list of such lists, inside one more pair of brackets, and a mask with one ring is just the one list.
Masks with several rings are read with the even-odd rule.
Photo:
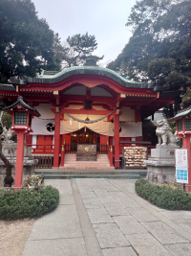
[[[12, 164], [11, 174], [13, 178], [15, 176], [16, 148], [17, 148], [17, 144], [14, 142], [10, 142], [10, 147], [8, 146], [8, 144], [3, 143], [3, 147], [2, 147], [2, 151], [4, 155], [8, 158], [8, 160], [11, 161], [11, 164]], [[37, 163], [38, 163], [38, 160], [33, 159], [32, 148], [25, 146], [24, 163], [23, 163], [23, 179], [28, 175], [34, 174], [34, 167]], [[6, 167], [4, 165], [4, 162], [0, 159], [0, 184], [3, 184], [5, 175], [6, 175]]]

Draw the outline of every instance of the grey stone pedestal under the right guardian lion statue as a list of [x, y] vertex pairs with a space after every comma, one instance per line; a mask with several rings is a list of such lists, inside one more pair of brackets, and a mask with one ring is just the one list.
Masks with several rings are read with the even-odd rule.
[[166, 181], [174, 182], [176, 175], [175, 150], [179, 146], [157, 146], [151, 150], [151, 157], [145, 160], [147, 165], [147, 179], [163, 183]]

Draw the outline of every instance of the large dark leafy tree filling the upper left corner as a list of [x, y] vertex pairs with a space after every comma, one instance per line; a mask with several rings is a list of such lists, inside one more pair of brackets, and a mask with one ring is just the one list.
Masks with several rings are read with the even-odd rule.
[[40, 68], [58, 69], [53, 45], [58, 39], [31, 0], [0, 1], [0, 82], [35, 76]]

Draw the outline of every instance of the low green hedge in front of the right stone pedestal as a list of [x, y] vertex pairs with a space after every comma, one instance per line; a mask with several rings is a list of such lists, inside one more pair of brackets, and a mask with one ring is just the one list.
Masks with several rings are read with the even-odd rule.
[[136, 192], [141, 198], [168, 210], [191, 210], [191, 194], [182, 193], [180, 189], [150, 183], [148, 180], [136, 181]]

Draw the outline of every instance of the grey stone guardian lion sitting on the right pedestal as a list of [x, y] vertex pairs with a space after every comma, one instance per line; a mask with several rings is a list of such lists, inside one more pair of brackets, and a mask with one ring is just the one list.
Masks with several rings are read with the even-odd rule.
[[159, 140], [157, 146], [177, 146], [177, 139], [165, 119], [157, 121], [156, 135]]

